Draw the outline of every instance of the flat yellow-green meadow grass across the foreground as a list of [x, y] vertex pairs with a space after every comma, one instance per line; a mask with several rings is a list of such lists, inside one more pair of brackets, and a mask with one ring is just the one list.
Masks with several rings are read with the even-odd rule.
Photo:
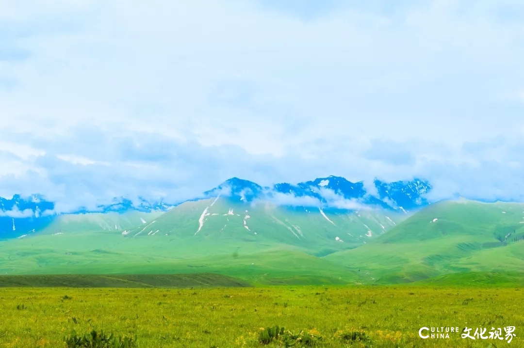
[[[278, 324], [321, 335], [322, 347], [518, 347], [524, 346], [523, 305], [521, 288], [2, 288], [0, 346], [63, 347], [73, 329], [102, 329], [136, 334], [139, 347], [257, 347], [260, 328]], [[516, 327], [510, 344], [418, 336], [424, 326], [510, 325]], [[341, 335], [358, 330], [369, 341]]]

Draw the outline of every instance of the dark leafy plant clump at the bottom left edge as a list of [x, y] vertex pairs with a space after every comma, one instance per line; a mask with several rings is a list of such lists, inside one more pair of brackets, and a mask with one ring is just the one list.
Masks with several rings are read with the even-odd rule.
[[79, 336], [73, 330], [64, 342], [68, 348], [133, 348], [136, 347], [136, 336], [115, 336], [113, 333], [107, 335], [95, 330]]

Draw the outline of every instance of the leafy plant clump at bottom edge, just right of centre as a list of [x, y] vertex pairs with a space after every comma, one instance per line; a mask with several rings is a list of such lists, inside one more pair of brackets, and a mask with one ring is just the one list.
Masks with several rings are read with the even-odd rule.
[[261, 328], [258, 342], [260, 344], [270, 344], [278, 342], [283, 344], [285, 347], [293, 346], [314, 346], [316, 343], [322, 340], [320, 332], [316, 330], [300, 331], [293, 333], [289, 330], [285, 330], [283, 327], [278, 325], [272, 328]]

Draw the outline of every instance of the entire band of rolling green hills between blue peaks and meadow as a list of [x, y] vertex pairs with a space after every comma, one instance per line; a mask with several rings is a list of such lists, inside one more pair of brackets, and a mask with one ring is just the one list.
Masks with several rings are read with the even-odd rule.
[[464, 274], [516, 284], [523, 239], [524, 204], [442, 201], [407, 216], [217, 198], [164, 214], [60, 217], [0, 241], [0, 274], [213, 273], [252, 284], [439, 284]]

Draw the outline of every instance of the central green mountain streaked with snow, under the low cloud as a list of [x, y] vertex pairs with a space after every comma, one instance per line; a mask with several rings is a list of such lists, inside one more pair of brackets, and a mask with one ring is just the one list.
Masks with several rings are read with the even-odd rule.
[[297, 210], [219, 198], [186, 202], [155, 221], [126, 231], [126, 237], [168, 236], [184, 245], [196, 243], [193, 252], [197, 253], [211, 248], [210, 253], [215, 254], [217, 246], [224, 244], [254, 250], [291, 245], [321, 256], [363, 245], [403, 218], [403, 214], [378, 209], [350, 213]]

